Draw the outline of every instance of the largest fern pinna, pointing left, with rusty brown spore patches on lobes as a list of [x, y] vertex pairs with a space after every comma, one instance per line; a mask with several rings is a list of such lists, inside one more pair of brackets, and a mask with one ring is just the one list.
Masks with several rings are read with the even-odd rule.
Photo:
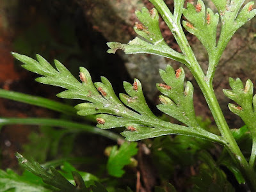
[[[159, 90], [174, 100], [177, 109], [167, 109], [166, 106], [168, 105], [159, 105], [158, 107], [164, 113], [177, 118], [180, 122], [184, 122], [188, 127], [172, 124], [157, 118], [150, 108], [148, 108], [142, 92], [141, 83], [138, 79], [134, 79], [133, 84], [124, 82], [124, 88], [127, 94], [120, 93], [120, 99], [118, 99], [111, 83], [106, 77], [101, 77], [101, 82], [93, 83], [86, 68], [80, 67], [81, 82], [79, 82], [60, 61], [54, 60], [55, 69], [39, 55], [36, 55], [38, 61], [14, 52], [13, 56], [24, 63], [22, 67], [42, 76], [38, 77], [36, 81], [65, 88], [65, 91], [58, 93], [58, 97], [85, 100], [86, 102], [78, 104], [75, 107], [78, 110], [77, 114], [97, 114], [97, 127], [102, 129], [126, 127], [127, 129], [122, 135], [129, 141], [153, 138], [166, 134], [184, 134], [223, 144], [220, 136], [205, 131], [205, 129], [202, 129], [196, 123], [195, 113], [191, 113], [193, 112], [193, 86], [191, 83], [187, 83], [184, 94], [184, 71], [182, 68], [179, 69], [178, 78], [176, 78], [178, 74], [172, 74], [173, 69], [170, 66], [166, 68], [166, 72], [161, 71], [161, 76], [166, 84], [174, 83], [172, 85], [173, 90], [170, 93], [165, 92], [158, 84]], [[173, 95], [176, 93], [177, 95]], [[171, 112], [172, 110], [173, 112]]]

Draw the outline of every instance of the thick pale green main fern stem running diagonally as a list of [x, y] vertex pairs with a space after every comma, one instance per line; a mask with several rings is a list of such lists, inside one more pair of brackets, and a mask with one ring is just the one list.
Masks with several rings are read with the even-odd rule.
[[[236, 143], [236, 140], [234, 139], [234, 136], [232, 136], [232, 132], [230, 131], [227, 125], [227, 122], [221, 111], [218, 100], [216, 99], [216, 95], [212, 88], [212, 84], [210, 83], [209, 79], [205, 76], [202, 68], [200, 67], [198, 61], [196, 60], [195, 54], [188, 43], [188, 40], [183, 32], [180, 23], [175, 22], [175, 20], [173, 20], [173, 15], [172, 13], [170, 13], [170, 10], [168, 9], [163, 0], [150, 1], [154, 4], [154, 6], [156, 6], [157, 10], [163, 17], [164, 21], [166, 22], [167, 26], [172, 31], [173, 36], [177, 40], [177, 43], [179, 44], [183, 54], [186, 55], [188, 62], [187, 67], [189, 68], [189, 70], [191, 70], [193, 76], [196, 79], [196, 82], [198, 83], [200, 89], [202, 90], [202, 93], [204, 94], [207, 104], [211, 109], [214, 120], [216, 121], [218, 129], [220, 129], [221, 136], [226, 141], [225, 147], [230, 152], [232, 158], [235, 159], [235, 162], [237, 163], [241, 172], [243, 173], [244, 179], [246, 180], [247, 184], [253, 191], [256, 191], [255, 173], [250, 168], [248, 162], [243, 156], [240, 148]], [[212, 72], [212, 75], [213, 74], [214, 72]], [[213, 77], [211, 77], [211, 79], [213, 79]]]

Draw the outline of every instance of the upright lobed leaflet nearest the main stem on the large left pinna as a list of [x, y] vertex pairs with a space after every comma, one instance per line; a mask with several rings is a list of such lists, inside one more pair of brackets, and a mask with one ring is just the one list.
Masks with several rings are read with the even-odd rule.
[[157, 88], [168, 97], [159, 96], [162, 104], [157, 105], [157, 108], [188, 126], [198, 127], [193, 107], [193, 85], [188, 81], [184, 89], [183, 68], [174, 72], [168, 65], [166, 70], [160, 70], [160, 75], [166, 84], [157, 84]]

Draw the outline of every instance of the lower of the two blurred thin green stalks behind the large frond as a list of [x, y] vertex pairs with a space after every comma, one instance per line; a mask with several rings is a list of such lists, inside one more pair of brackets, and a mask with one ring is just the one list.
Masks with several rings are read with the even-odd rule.
[[119, 134], [115, 134], [114, 132], [93, 127], [91, 125], [70, 122], [68, 120], [60, 120], [60, 119], [52, 119], [52, 118], [0, 118], [0, 127], [3, 125], [13, 125], [13, 124], [47, 125], [47, 126], [54, 126], [54, 127], [62, 127], [65, 129], [69, 129], [70, 132], [85, 131], [93, 134], [99, 134], [101, 136], [109, 138], [110, 140], [124, 141], [124, 138], [122, 138], [122, 136], [120, 136]]

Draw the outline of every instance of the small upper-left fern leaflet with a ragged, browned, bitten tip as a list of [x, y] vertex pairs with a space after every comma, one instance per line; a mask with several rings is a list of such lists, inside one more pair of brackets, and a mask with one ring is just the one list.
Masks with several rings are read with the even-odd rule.
[[[180, 13], [177, 14], [180, 15]], [[122, 49], [126, 54], [156, 54], [186, 63], [184, 55], [170, 48], [164, 41], [159, 28], [159, 16], [155, 8], [150, 11], [143, 8], [141, 12], [136, 12], [136, 16], [141, 22], [141, 24], [136, 22], [134, 26], [134, 31], [139, 37], [134, 38], [128, 44], [109, 42], [109, 53], [115, 53], [116, 50]]]

